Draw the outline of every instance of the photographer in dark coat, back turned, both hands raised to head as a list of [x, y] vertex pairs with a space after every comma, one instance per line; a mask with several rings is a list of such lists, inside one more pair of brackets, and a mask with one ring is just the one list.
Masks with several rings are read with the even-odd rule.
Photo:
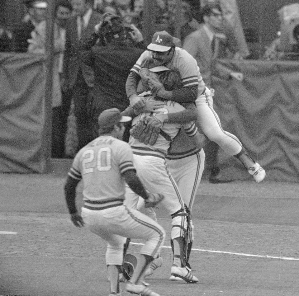
[[[92, 100], [88, 107], [93, 137], [98, 136], [97, 118], [107, 109], [125, 110], [126, 79], [143, 49], [130, 46], [127, 35], [136, 45], [143, 45], [143, 36], [133, 25], [126, 28], [120, 16], [106, 13], [94, 32], [78, 46], [78, 58], [94, 70]], [[126, 126], [123, 140], [128, 142], [131, 125]]]

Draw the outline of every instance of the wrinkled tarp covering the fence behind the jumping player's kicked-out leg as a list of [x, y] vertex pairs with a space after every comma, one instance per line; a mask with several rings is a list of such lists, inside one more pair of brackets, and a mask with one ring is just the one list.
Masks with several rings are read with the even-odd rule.
[[[234, 133], [265, 168], [265, 180], [298, 182], [299, 62], [220, 63], [244, 74], [243, 82], [214, 78], [214, 107], [222, 127]], [[205, 151], [209, 157], [209, 146]], [[221, 152], [218, 162], [227, 176], [250, 177], [240, 162]]]

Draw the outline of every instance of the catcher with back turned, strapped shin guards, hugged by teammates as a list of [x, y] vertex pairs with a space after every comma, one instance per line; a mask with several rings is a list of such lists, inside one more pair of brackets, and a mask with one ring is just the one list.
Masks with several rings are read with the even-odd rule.
[[[162, 70], [163, 72], [161, 72], [160, 70]], [[162, 68], [157, 67], [156, 69], [154, 69], [154, 71], [159, 71], [160, 73], [151, 74], [148, 71], [148, 69], [145, 69], [143, 81], [144, 82], [146, 81], [151, 84], [155, 84], [157, 88], [160, 87], [160, 85], [162, 84], [161, 81], [164, 81], [164, 87], [173, 88], [173, 87], [181, 86], [180, 83], [181, 79], [178, 72], [174, 72], [174, 71], [170, 72], [169, 69], [165, 71], [165, 67]], [[173, 76], [173, 79], [169, 78], [170, 75]], [[149, 79], [147, 80], [147, 78]], [[169, 85], [167, 85], [167, 82], [169, 82]], [[143, 87], [146, 86], [144, 85]], [[144, 92], [140, 94], [140, 98], [141, 100], [139, 102], [131, 106], [131, 112], [133, 110], [135, 114], [140, 113], [141, 111], [148, 110], [148, 107], [146, 106], [147, 102], [148, 100], [153, 99], [154, 96], [152, 95], [151, 92]], [[154, 99], [159, 100], [159, 98], [157, 97]], [[143, 106], [143, 104], [145, 106]], [[194, 104], [191, 105], [193, 105], [193, 109], [195, 109], [195, 105]], [[147, 185], [150, 186], [150, 188], [153, 189], [155, 188], [157, 192], [163, 192], [166, 195], [165, 202], [162, 201], [161, 204], [168, 210], [169, 214], [171, 214], [172, 217], [173, 228], [171, 232], [171, 240], [173, 243], [174, 261], [173, 261], [173, 267], [171, 268], [171, 273], [174, 275], [181, 276], [182, 279], [188, 283], [196, 283], [198, 279], [190, 273], [190, 270], [187, 270], [185, 267], [187, 236], [188, 236], [187, 229], [189, 228], [187, 212], [182, 197], [180, 196], [178, 189], [176, 187], [175, 181], [168, 174], [168, 172], [166, 172], [167, 168], [165, 167], [165, 161], [163, 161], [165, 155], [167, 154], [172, 139], [175, 138], [178, 131], [182, 127], [181, 124], [170, 124], [172, 122], [172, 118], [174, 118], [177, 113], [180, 113], [178, 112], [180, 110], [182, 110], [182, 112], [187, 111], [186, 112], [187, 114], [192, 109], [190, 108], [190, 110], [186, 110], [183, 106], [177, 103], [174, 103], [172, 101], [164, 101], [164, 106], [156, 110], [154, 114], [150, 114], [150, 113], [145, 114], [143, 112], [140, 113], [133, 120], [133, 124], [132, 124], [133, 128], [131, 129], [131, 137], [129, 140], [129, 144], [133, 148], [134, 159], [136, 160], [135, 163], [138, 166], [140, 178], [146, 181]], [[128, 111], [129, 108], [126, 111], [122, 112], [122, 114], [124, 115], [132, 114], [132, 113], [126, 113]], [[132, 114], [132, 116], [134, 116], [134, 114]], [[195, 119], [196, 117], [197, 117], [197, 113], [195, 112]], [[163, 122], [162, 120], [160, 120], [160, 118], [163, 118]], [[185, 117], [183, 116], [182, 121], [184, 120]], [[146, 127], [147, 125], [154, 126], [154, 129], [147, 128]], [[160, 129], [159, 133], [157, 132], [158, 129]], [[195, 145], [199, 146], [201, 145], [201, 142], [199, 142], [198, 140], [200, 139], [199, 133], [196, 131], [197, 129], [191, 132], [192, 129], [190, 126], [190, 128], [185, 130], [187, 134], [191, 136], [190, 139], [193, 138], [193, 136], [194, 138], [197, 139]], [[150, 131], [150, 135], [149, 135], [149, 131]], [[157, 134], [158, 134], [158, 138], [156, 136]], [[148, 139], [145, 140], [146, 137], [148, 137], [150, 140]], [[154, 157], [155, 159], [153, 159], [152, 157]], [[162, 158], [162, 162], [160, 158]], [[150, 165], [150, 163], [152, 163], [152, 165]], [[158, 163], [160, 163], [159, 168], [157, 167]], [[166, 172], [166, 174], [164, 172]], [[172, 185], [168, 184], [169, 179], [171, 180]], [[175, 186], [175, 191], [172, 191], [173, 189], [171, 189], [173, 188], [173, 186]], [[136, 207], [136, 203], [138, 202], [138, 197], [136, 202], [135, 196], [132, 196], [130, 198], [129, 197], [130, 195], [134, 195], [134, 194], [131, 193], [130, 190], [128, 190], [126, 195], [127, 201], [129, 202], [133, 200], [133, 203], [127, 205], [129, 207], [134, 208]], [[175, 199], [176, 196], [179, 203], [177, 203]], [[151, 210], [153, 211], [153, 209]], [[179, 230], [177, 227], [178, 225], [183, 225], [183, 229], [180, 228]]]

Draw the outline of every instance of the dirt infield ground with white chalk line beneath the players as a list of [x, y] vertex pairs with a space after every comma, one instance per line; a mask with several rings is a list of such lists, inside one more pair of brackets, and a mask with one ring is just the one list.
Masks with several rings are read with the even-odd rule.
[[[70, 222], [64, 180], [65, 171], [0, 174], [0, 295], [109, 295], [106, 244]], [[164, 264], [148, 279], [152, 289], [161, 296], [297, 296], [298, 192], [298, 183], [210, 184], [204, 178], [190, 262], [199, 282], [168, 280], [170, 219], [158, 209], [168, 236]], [[130, 245], [132, 254], [140, 243]]]

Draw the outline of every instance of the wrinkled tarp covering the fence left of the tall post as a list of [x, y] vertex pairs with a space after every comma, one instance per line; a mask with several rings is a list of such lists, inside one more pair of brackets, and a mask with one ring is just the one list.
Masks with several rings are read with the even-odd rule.
[[0, 53], [0, 172], [42, 173], [44, 56]]

